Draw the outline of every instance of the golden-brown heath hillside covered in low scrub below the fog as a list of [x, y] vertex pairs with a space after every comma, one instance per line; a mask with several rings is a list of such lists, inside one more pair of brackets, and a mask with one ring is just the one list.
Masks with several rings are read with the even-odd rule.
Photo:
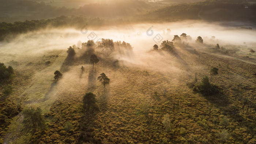
[[[89, 63], [90, 55], [75, 58], [73, 62], [63, 59], [64, 51], [47, 52], [45, 56], [34, 56], [30, 60], [19, 56], [3, 57], [5, 61], [23, 60], [20, 66], [14, 67], [17, 74], [12, 83], [13, 87], [22, 86], [23, 90], [14, 91], [11, 97], [17, 96], [23, 108], [40, 106], [47, 129], [34, 135], [25, 134], [29, 131], [23, 129], [19, 114], [2, 140], [12, 143], [255, 142], [255, 63], [197, 48], [177, 51], [178, 57], [154, 51], [148, 52], [146, 57], [134, 55], [131, 62], [96, 52], [99, 63], [94, 72]], [[23, 82], [31, 69], [22, 65], [32, 59], [33, 78]], [[51, 63], [44, 66], [47, 60]], [[81, 73], [81, 65], [84, 73]], [[187, 83], [195, 73], [198, 79], [210, 76], [211, 67], [219, 68], [219, 75], [214, 76], [212, 82], [221, 92], [212, 96], [193, 92]], [[63, 78], [53, 84], [53, 71], [58, 69], [63, 72]], [[21, 72], [24, 75], [18, 75]], [[110, 78], [106, 93], [96, 80], [102, 72]], [[166, 95], [163, 94], [165, 89]], [[82, 99], [87, 92], [96, 95], [100, 111], [90, 113], [83, 109]], [[165, 114], [170, 114], [171, 132], [167, 132], [162, 123]], [[71, 128], [66, 128], [67, 122], [71, 123]]]

